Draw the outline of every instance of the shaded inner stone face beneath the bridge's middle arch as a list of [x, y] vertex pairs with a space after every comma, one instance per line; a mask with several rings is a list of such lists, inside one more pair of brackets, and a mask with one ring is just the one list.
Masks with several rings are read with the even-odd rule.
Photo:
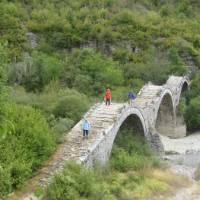
[[161, 135], [175, 138], [174, 127], [175, 114], [172, 96], [170, 93], [165, 93], [158, 109], [155, 128]]

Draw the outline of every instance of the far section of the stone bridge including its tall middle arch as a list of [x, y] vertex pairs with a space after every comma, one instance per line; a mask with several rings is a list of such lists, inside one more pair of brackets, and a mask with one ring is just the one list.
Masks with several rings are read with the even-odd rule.
[[161, 135], [170, 138], [186, 136], [186, 125], [177, 108], [181, 95], [188, 89], [187, 77], [171, 76], [163, 86], [155, 117], [155, 128]]

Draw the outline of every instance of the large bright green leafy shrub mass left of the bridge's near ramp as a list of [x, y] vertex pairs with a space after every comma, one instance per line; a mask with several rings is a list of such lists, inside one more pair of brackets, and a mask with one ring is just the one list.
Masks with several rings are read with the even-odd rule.
[[5, 187], [0, 196], [21, 187], [55, 149], [54, 133], [38, 110], [8, 104], [4, 127], [6, 134], [0, 140], [0, 163], [8, 178], [0, 179], [1, 187]]

